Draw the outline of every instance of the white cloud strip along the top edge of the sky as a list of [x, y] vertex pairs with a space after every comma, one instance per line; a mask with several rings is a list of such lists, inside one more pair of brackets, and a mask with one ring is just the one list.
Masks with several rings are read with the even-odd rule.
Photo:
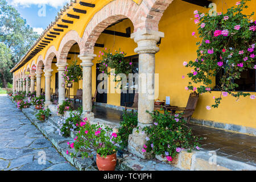
[[30, 5], [49, 5], [52, 7], [63, 7], [70, 0], [8, 0], [10, 5], [29, 7]]

